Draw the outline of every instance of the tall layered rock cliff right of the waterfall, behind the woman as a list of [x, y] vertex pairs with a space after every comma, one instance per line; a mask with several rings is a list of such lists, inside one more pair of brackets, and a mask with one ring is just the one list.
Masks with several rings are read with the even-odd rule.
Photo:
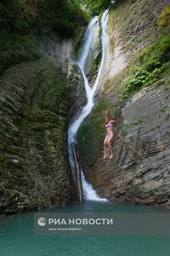
[[[78, 130], [86, 179], [99, 195], [115, 202], [170, 205], [168, 64], [159, 82], [137, 90], [128, 100], [122, 95], [125, 82], [132, 76], [131, 67], [139, 65], [139, 54], [149, 44], [157, 44], [157, 37], [166, 35], [159, 30], [157, 20], [167, 4], [137, 0], [111, 8], [103, 83], [97, 91], [96, 108]], [[106, 132], [101, 126], [108, 107], [117, 116], [113, 159], [103, 159]]]

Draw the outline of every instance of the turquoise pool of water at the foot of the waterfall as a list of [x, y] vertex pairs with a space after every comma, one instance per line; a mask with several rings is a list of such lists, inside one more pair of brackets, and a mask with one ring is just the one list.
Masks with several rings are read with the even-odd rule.
[[[160, 207], [76, 203], [39, 212], [164, 212]], [[1, 256], [166, 256], [169, 236], [34, 236], [34, 212], [0, 219]]]

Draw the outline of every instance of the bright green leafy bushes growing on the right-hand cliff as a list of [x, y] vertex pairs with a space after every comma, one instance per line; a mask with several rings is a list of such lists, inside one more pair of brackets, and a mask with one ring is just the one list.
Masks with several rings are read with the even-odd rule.
[[160, 77], [168, 75], [169, 67], [170, 36], [164, 35], [138, 54], [138, 67], [133, 67], [133, 76], [125, 83], [124, 99], [141, 90], [141, 88], [154, 83]]

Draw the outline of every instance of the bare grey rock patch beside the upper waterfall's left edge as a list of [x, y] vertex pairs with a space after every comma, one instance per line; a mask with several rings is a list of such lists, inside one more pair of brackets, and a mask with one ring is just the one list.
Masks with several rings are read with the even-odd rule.
[[65, 74], [64, 90], [69, 100], [69, 120], [80, 113], [87, 99], [83, 77], [73, 51], [73, 40], [60, 40], [51, 31], [46, 31], [39, 45], [41, 54], [57, 58]]

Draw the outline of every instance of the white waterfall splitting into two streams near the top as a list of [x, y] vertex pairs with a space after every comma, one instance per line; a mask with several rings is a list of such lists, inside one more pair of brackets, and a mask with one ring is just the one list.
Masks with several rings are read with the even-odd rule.
[[[85, 67], [86, 67], [86, 63], [87, 63], [87, 58], [90, 54], [90, 47], [92, 45], [92, 42], [94, 40], [94, 35], [97, 29], [97, 22], [98, 22], [98, 17], [94, 17], [94, 19], [91, 20], [89, 27], [87, 28], [87, 38], [85, 40], [85, 44], [83, 46], [83, 49], [81, 51], [81, 56], [78, 60], [78, 66], [80, 67], [82, 76], [84, 78], [85, 81], [85, 90], [87, 93], [87, 105], [83, 108], [82, 113], [80, 114], [80, 116], [78, 116], [78, 118], [76, 119], [75, 122], [73, 122], [73, 124], [71, 124], [71, 126], [69, 127], [68, 130], [68, 148], [69, 148], [69, 162], [71, 164], [71, 170], [73, 172], [73, 177], [75, 178], [75, 174], [74, 174], [74, 156], [73, 156], [73, 145], [74, 145], [74, 141], [76, 138], [76, 132], [78, 131], [78, 128], [80, 127], [81, 122], [86, 118], [86, 116], [88, 116], [90, 114], [90, 112], [92, 111], [92, 108], [94, 106], [94, 93], [96, 91], [97, 86], [99, 86], [99, 78], [101, 76], [101, 71], [103, 68], [103, 64], [104, 64], [104, 57], [106, 54], [106, 47], [105, 47], [105, 40], [104, 38], [106, 38], [106, 26], [107, 26], [107, 22], [108, 22], [108, 10], [106, 10], [103, 14], [103, 17], [101, 19], [101, 26], [102, 26], [102, 47], [103, 47], [103, 56], [102, 56], [102, 60], [101, 60], [101, 65], [99, 67], [99, 72], [97, 74], [97, 79], [96, 82], [94, 84], [94, 86], [92, 88], [90, 88], [89, 86], [89, 82], [87, 81], [87, 77], [85, 76]], [[89, 184], [86, 180], [85, 180], [85, 176], [83, 175], [83, 172], [81, 170], [81, 181], [82, 181], [82, 186], [83, 186], [83, 193], [85, 196], [85, 199], [87, 200], [94, 200], [94, 201], [106, 201], [106, 198], [99, 198], [99, 196], [97, 195], [96, 191], [92, 188], [92, 185]]]

